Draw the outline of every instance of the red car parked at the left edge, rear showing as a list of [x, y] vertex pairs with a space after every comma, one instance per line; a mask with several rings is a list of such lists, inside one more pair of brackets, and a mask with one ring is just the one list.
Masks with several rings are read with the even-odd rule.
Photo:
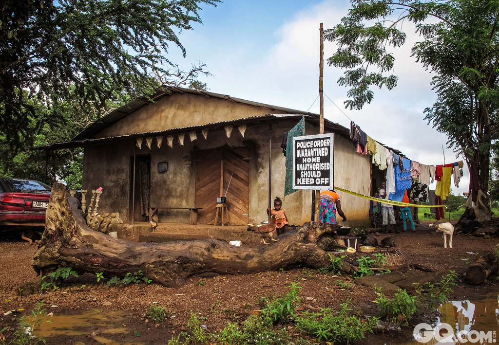
[[0, 227], [45, 226], [50, 191], [39, 181], [0, 177]]

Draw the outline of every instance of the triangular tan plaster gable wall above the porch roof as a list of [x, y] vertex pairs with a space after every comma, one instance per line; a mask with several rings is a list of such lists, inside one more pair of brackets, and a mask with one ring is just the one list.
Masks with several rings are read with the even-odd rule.
[[[269, 109], [193, 94], [160, 98], [104, 129], [94, 138], [166, 131], [269, 113]], [[272, 111], [274, 114], [281, 112]]]

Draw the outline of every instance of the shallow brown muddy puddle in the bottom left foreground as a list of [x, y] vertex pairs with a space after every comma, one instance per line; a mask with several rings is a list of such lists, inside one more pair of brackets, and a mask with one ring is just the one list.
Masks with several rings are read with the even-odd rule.
[[[89, 310], [83, 314], [42, 316], [42, 322], [36, 327], [34, 335], [41, 338], [57, 336], [89, 336], [106, 345], [141, 345], [132, 341], [133, 332], [125, 326], [123, 312]], [[47, 322], [48, 321], [48, 322]], [[115, 342], [106, 336], [122, 335], [126, 341]], [[84, 343], [74, 343], [82, 345]]]

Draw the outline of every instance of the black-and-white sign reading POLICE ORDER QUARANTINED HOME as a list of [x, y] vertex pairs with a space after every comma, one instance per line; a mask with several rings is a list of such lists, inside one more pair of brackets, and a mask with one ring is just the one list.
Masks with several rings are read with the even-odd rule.
[[293, 189], [333, 188], [333, 134], [293, 138]]

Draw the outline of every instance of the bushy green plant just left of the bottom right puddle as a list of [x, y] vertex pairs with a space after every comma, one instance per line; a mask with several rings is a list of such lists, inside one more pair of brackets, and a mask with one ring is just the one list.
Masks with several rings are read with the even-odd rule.
[[378, 298], [379, 316], [386, 317], [388, 322], [400, 323], [407, 326], [416, 310], [416, 297], [409, 296], [402, 289], [395, 292], [393, 299], [386, 298], [384, 295]]

